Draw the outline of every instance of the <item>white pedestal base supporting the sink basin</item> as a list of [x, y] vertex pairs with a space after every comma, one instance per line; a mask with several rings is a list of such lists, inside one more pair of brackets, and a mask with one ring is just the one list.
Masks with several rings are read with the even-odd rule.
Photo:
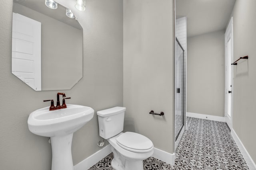
[[51, 137], [52, 170], [74, 170], [71, 145], [73, 133]]

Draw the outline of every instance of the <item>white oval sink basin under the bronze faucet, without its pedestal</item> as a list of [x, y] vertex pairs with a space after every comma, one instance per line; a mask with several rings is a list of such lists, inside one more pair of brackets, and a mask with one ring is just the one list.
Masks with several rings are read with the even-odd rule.
[[67, 108], [49, 111], [44, 107], [28, 117], [28, 129], [40, 136], [54, 137], [74, 133], [92, 119], [91, 107], [67, 104]]

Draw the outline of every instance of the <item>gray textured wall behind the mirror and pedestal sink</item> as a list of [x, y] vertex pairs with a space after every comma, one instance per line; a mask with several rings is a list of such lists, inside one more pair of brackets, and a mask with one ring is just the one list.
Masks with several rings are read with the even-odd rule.
[[[96, 111], [123, 105], [122, 9], [120, 0], [87, 0], [86, 11], [77, 12], [84, 29], [83, 78], [61, 92], [71, 97], [67, 104], [90, 106], [95, 113], [74, 133], [74, 165], [100, 149]], [[27, 119], [35, 109], [50, 105], [42, 100], [56, 101], [59, 91], [36, 92], [11, 73], [12, 1], [0, 1], [0, 15], [0, 169], [50, 170], [48, 138], [30, 133]]]

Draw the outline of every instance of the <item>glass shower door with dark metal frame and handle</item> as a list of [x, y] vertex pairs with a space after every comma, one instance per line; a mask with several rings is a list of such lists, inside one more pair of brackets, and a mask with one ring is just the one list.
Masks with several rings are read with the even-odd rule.
[[[176, 149], [186, 123], [186, 60], [184, 49], [178, 39], [175, 41], [175, 116], [174, 139]], [[178, 141], [177, 141], [178, 140]]]

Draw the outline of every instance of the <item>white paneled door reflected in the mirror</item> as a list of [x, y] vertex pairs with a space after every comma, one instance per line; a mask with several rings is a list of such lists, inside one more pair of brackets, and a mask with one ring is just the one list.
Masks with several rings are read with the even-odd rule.
[[41, 23], [12, 13], [12, 74], [41, 90]]

